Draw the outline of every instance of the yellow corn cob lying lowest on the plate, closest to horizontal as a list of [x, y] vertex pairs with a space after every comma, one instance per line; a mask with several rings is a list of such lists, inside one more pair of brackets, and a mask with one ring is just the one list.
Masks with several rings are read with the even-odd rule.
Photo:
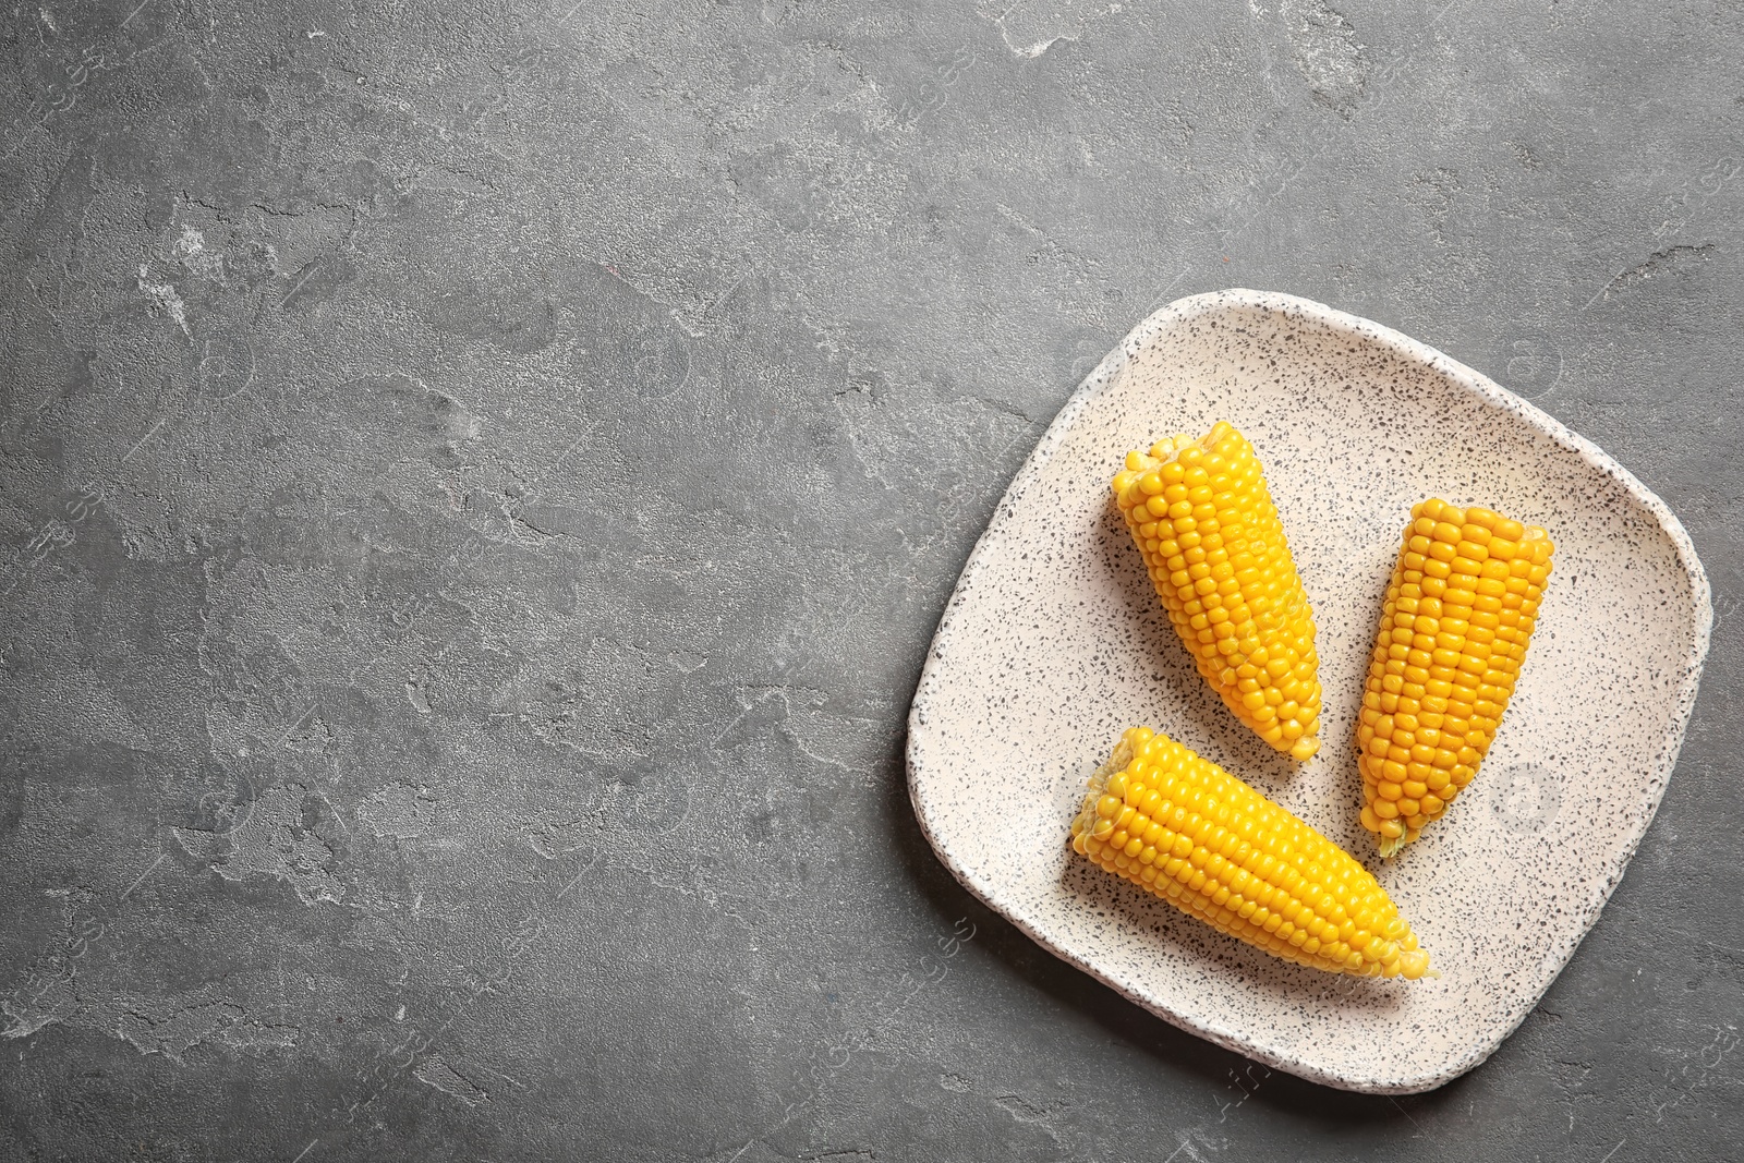
[[1416, 980], [1428, 954], [1345, 849], [1149, 727], [1090, 778], [1073, 849], [1285, 961]]

